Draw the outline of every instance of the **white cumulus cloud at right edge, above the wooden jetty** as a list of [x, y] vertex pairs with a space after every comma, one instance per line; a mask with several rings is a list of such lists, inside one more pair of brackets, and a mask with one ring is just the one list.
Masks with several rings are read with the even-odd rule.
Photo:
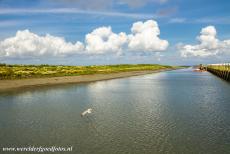
[[182, 57], [208, 57], [229, 52], [230, 40], [220, 41], [216, 38], [217, 32], [214, 26], [202, 28], [197, 37], [199, 44], [179, 44], [178, 49]]

